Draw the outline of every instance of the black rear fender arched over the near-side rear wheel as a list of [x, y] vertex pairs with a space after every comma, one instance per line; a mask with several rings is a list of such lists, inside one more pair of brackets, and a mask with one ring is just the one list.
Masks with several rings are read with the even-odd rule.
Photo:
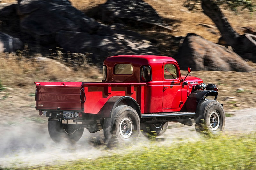
[[113, 111], [117, 106], [127, 105], [131, 106], [135, 109], [141, 117], [141, 110], [139, 104], [130, 96], [113, 96], [104, 104], [104, 106], [100, 109], [99, 113], [101, 117], [114, 117]]

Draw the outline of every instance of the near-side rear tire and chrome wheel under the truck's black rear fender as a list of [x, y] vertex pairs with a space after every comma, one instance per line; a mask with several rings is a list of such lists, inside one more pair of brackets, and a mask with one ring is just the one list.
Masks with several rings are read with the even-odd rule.
[[106, 118], [103, 124], [105, 144], [108, 148], [131, 146], [140, 135], [140, 118], [130, 106], [122, 105], [114, 109], [114, 116]]

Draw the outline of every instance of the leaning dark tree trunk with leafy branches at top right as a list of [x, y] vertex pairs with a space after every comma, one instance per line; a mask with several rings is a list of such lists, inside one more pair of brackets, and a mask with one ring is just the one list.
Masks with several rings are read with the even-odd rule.
[[[256, 62], [254, 57], [256, 56], [256, 36], [239, 35], [229, 24], [228, 19], [219, 7], [220, 5], [226, 5], [234, 12], [247, 8], [252, 12], [256, 7], [252, 0], [187, 0], [184, 3], [184, 6], [189, 10], [197, 10], [198, 5], [202, 6], [204, 14], [212, 19], [220, 30], [223, 39], [229, 46], [233, 47], [237, 54]], [[250, 53], [250, 57], [248, 57], [248, 53]]]

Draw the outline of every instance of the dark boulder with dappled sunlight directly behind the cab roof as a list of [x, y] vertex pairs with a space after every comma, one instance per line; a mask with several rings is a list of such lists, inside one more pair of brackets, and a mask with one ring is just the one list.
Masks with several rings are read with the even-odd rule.
[[71, 53], [92, 53], [94, 61], [109, 55], [148, 54], [157, 55], [159, 52], [153, 44], [136, 32], [115, 29], [110, 25], [102, 30], [102, 34], [90, 35], [86, 32], [60, 31], [57, 42]]

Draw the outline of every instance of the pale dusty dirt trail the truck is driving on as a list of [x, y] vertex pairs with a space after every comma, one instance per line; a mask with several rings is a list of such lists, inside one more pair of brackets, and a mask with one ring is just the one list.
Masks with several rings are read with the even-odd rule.
[[[17, 116], [16, 119], [11, 119], [8, 122], [8, 115], [2, 115], [0, 169], [1, 167], [19, 168], [51, 165], [54, 162], [60, 165], [61, 162], [76, 159], [93, 159], [120, 153], [117, 149], [105, 149], [102, 143], [102, 130], [94, 134], [85, 130], [82, 138], [73, 145], [65, 142], [55, 144], [48, 135], [46, 117], [35, 116], [38, 113], [34, 109], [19, 111], [21, 110], [17, 110], [17, 114], [24, 116], [29, 113], [30, 117], [24, 119]], [[224, 134], [253, 133], [256, 131], [256, 108], [229, 113], [233, 117], [226, 118]], [[169, 122], [167, 132], [158, 141], [153, 144], [149, 143], [148, 139], [141, 134], [138, 144], [132, 148], [124, 148], [123, 152], [136, 152], [136, 150], [148, 147], [148, 145], [171, 145], [175, 142], [188, 140], [200, 140], [194, 125], [188, 127], [180, 123]]]

